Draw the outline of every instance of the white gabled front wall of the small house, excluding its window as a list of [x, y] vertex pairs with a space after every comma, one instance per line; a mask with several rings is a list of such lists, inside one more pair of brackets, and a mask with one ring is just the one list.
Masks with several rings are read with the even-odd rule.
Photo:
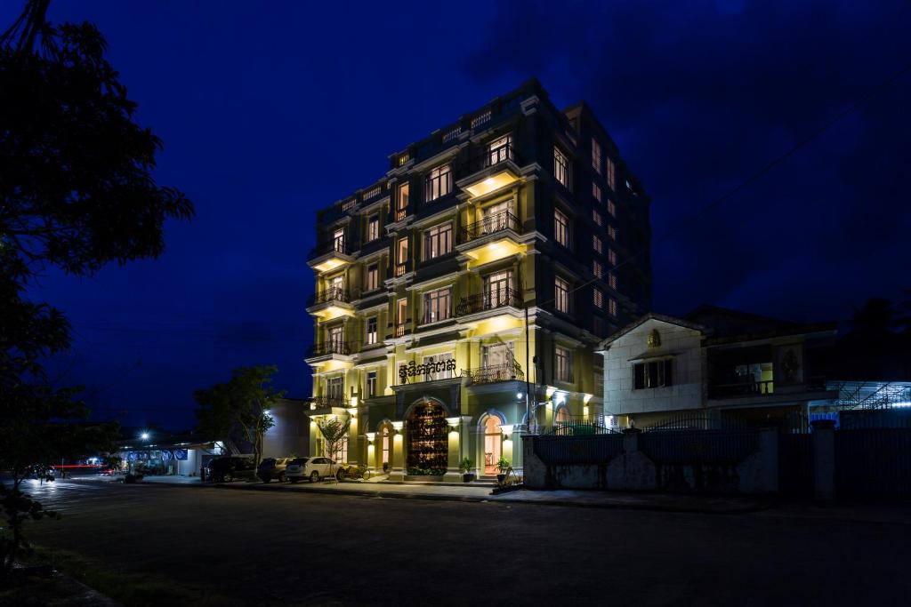
[[[650, 348], [657, 329], [660, 346]], [[643, 357], [673, 359], [673, 385], [633, 389], [633, 364]], [[612, 342], [604, 357], [604, 412], [630, 415], [655, 411], [701, 409], [705, 377], [701, 333], [659, 319], [649, 319]]]

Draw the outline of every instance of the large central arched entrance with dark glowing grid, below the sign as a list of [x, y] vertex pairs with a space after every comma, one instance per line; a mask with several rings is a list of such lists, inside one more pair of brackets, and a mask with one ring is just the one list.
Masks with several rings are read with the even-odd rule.
[[432, 400], [415, 405], [408, 416], [407, 458], [409, 475], [442, 476], [449, 459], [445, 410]]

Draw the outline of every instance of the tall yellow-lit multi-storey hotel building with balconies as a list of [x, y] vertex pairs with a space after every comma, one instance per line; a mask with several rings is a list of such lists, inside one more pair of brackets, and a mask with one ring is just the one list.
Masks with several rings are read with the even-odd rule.
[[537, 81], [391, 155], [316, 231], [311, 452], [350, 420], [336, 459], [392, 478], [520, 469], [529, 426], [600, 414], [594, 347], [650, 305], [648, 197]]

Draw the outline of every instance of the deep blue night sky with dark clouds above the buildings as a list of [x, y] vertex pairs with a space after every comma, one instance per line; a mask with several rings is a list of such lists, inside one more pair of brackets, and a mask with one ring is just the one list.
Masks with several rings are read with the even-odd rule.
[[[4, 29], [20, 10], [0, 5]], [[656, 311], [844, 320], [911, 288], [911, 74], [693, 218], [911, 64], [906, 3], [55, 0], [49, 18], [107, 37], [164, 140], [159, 183], [197, 210], [158, 260], [34, 289], [73, 323], [54, 370], [96, 417], [188, 427], [192, 390], [241, 365], [309, 396], [315, 210], [530, 76], [589, 102], [650, 195]]]

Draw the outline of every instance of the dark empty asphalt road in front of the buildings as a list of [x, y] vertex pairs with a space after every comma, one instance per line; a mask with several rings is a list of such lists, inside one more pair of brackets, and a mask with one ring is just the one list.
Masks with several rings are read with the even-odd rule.
[[56, 481], [45, 545], [234, 605], [911, 601], [911, 520], [701, 515]]

